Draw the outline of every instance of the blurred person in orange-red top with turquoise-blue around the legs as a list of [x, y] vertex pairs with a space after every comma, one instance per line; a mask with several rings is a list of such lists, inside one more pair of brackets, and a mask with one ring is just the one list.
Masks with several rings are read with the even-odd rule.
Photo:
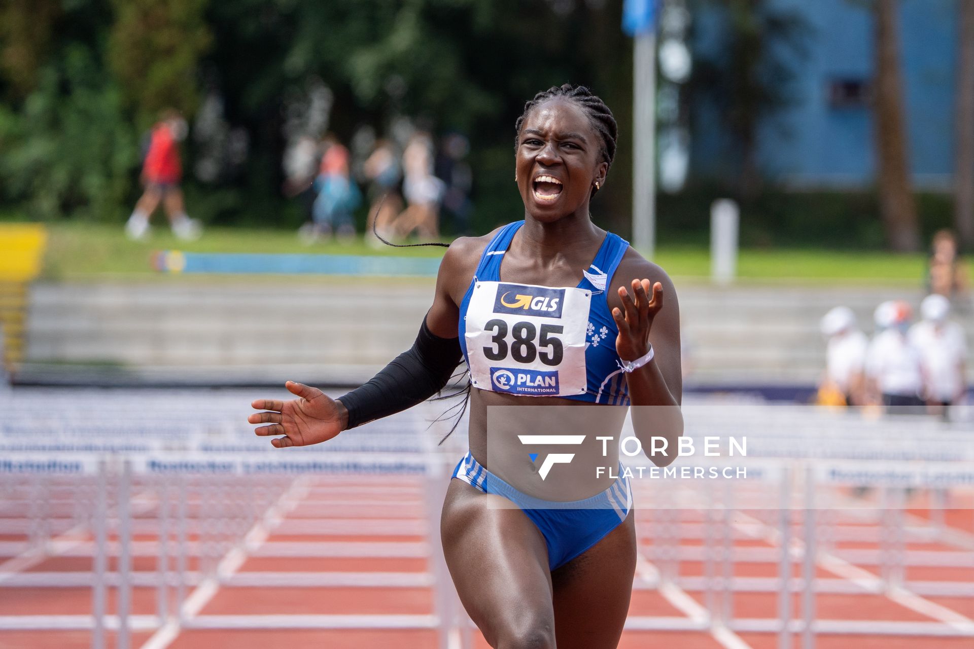
[[333, 138], [326, 142], [314, 184], [318, 192], [312, 208], [314, 222], [301, 229], [302, 238], [308, 243], [332, 233], [345, 240], [356, 234], [352, 213], [361, 202], [361, 195], [349, 176], [349, 150]]

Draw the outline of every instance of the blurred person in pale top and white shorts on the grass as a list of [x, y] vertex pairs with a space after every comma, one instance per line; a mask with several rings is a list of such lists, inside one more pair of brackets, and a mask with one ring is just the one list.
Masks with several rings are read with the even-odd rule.
[[392, 232], [398, 238], [417, 233], [422, 238], [439, 237], [439, 202], [443, 181], [432, 174], [432, 141], [427, 133], [417, 133], [402, 152], [402, 194], [407, 207], [395, 217]]

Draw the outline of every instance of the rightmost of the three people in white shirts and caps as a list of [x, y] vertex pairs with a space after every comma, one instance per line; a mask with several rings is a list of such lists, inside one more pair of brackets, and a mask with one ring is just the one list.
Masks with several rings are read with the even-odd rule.
[[945, 418], [967, 390], [964, 366], [967, 343], [964, 330], [947, 316], [951, 303], [942, 295], [929, 295], [919, 306], [923, 317], [910, 328], [910, 342], [920, 353], [927, 411]]

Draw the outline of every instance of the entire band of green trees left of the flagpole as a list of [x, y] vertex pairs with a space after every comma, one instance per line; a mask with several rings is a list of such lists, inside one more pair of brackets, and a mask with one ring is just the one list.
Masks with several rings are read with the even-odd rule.
[[[0, 9], [0, 200], [48, 218], [122, 219], [138, 191], [138, 142], [167, 106], [204, 92], [248, 136], [244, 165], [196, 181], [195, 216], [281, 224], [285, 99], [320, 79], [329, 128], [388, 134], [396, 116], [471, 141], [477, 228], [520, 215], [513, 124], [535, 92], [590, 86], [616, 111], [610, 192], [594, 209], [628, 222], [631, 44], [621, 0], [7, 0]], [[192, 121], [191, 121], [192, 123]], [[292, 209], [295, 214], [296, 210]]]

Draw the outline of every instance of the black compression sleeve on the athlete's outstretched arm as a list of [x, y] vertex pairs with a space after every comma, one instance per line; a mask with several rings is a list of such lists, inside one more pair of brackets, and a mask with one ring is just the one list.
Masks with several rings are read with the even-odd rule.
[[416, 342], [379, 374], [338, 398], [349, 411], [348, 428], [394, 415], [443, 389], [463, 358], [459, 338], [440, 338], [423, 319]]

